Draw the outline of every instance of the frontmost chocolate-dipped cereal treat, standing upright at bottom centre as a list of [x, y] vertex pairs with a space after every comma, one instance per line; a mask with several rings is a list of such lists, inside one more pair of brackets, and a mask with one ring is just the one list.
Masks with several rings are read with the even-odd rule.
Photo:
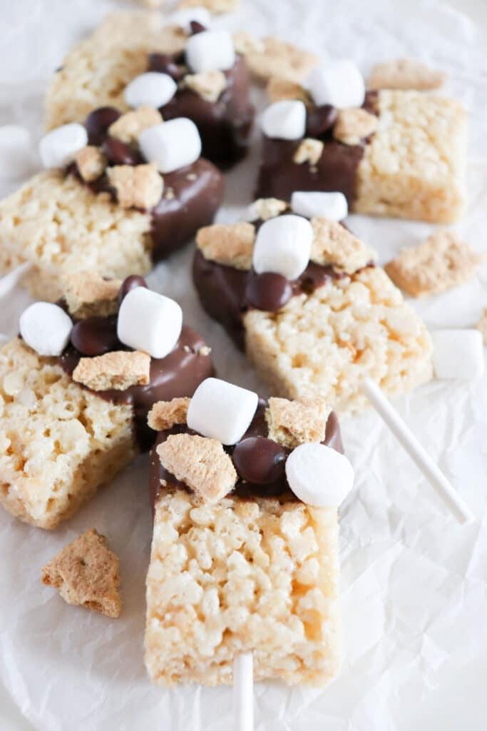
[[151, 680], [232, 683], [252, 652], [256, 681], [325, 686], [340, 670], [337, 507], [353, 483], [334, 413], [209, 379], [150, 423]]

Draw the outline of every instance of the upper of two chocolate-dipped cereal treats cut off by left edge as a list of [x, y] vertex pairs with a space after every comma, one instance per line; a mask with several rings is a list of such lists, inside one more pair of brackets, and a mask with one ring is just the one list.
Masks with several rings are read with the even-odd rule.
[[210, 223], [223, 197], [196, 128], [162, 124], [153, 107], [95, 110], [85, 126], [49, 132], [40, 151], [49, 169], [0, 201], [0, 273], [27, 262], [23, 281], [44, 300], [83, 269], [147, 273]]

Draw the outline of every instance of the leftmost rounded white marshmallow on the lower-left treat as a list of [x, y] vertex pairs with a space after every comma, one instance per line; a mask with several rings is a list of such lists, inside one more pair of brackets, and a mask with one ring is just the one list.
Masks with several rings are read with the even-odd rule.
[[35, 302], [20, 315], [20, 335], [39, 355], [61, 355], [72, 327], [71, 317], [50, 302]]

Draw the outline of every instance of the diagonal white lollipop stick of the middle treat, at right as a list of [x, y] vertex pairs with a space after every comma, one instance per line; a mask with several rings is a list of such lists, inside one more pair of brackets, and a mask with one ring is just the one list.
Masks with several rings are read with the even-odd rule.
[[475, 515], [461, 499], [453, 488], [453, 485], [448, 482], [437, 464], [432, 461], [432, 458], [418, 439], [416, 439], [410, 428], [407, 427], [396, 410], [389, 404], [380, 388], [367, 378], [362, 384], [362, 391], [391, 429], [396, 439], [410, 455], [410, 458], [421, 469], [426, 480], [429, 481], [430, 485], [434, 487], [451, 512], [453, 512], [457, 520], [460, 523], [472, 523], [475, 520]]

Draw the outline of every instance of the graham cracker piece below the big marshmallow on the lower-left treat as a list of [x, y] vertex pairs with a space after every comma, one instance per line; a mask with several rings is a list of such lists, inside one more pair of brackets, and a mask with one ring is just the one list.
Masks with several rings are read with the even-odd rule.
[[150, 355], [141, 350], [114, 350], [93, 358], [80, 358], [72, 379], [92, 391], [146, 386], [150, 380]]

